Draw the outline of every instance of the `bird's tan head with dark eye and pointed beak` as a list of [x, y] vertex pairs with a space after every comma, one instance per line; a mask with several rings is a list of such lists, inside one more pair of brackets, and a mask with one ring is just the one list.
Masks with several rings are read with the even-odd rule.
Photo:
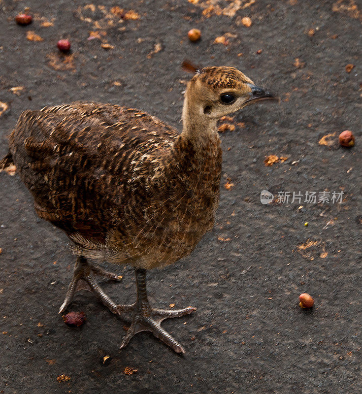
[[204, 67], [188, 84], [186, 96], [195, 115], [219, 119], [247, 105], [277, 100], [234, 67]]

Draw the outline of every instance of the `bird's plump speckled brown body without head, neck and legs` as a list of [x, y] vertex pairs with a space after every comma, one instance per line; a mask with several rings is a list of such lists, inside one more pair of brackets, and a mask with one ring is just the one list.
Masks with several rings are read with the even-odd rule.
[[9, 145], [37, 214], [87, 257], [172, 263], [212, 226], [218, 140], [197, 157], [145, 112], [75, 102], [23, 112]]

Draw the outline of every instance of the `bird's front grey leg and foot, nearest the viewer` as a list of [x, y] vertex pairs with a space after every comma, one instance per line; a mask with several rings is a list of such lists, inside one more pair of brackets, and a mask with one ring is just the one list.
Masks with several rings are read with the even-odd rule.
[[118, 305], [119, 314], [132, 311], [132, 324], [123, 338], [121, 349], [126, 347], [132, 336], [140, 331], [151, 331], [157, 338], [176, 353], [185, 353], [185, 349], [161, 327], [161, 322], [167, 318], [188, 315], [196, 310], [193, 306], [184, 309], [158, 309], [152, 308], [147, 299], [146, 270], [136, 268], [137, 299], [132, 305]]

